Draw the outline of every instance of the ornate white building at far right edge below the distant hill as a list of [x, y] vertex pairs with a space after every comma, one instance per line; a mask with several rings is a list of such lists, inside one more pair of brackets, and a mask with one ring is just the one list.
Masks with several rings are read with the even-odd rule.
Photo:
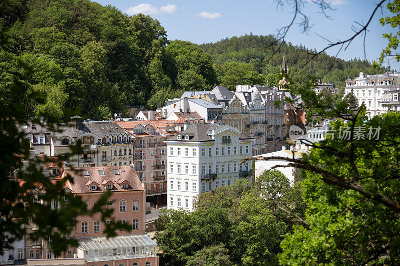
[[359, 76], [351, 80], [346, 80], [344, 95], [350, 93], [351, 89], [358, 100], [358, 106], [365, 104], [368, 117], [386, 113], [388, 108], [382, 105], [382, 96], [385, 92], [397, 90], [400, 85], [400, 73], [391, 73], [390, 65], [384, 74], [364, 75], [362, 72]]

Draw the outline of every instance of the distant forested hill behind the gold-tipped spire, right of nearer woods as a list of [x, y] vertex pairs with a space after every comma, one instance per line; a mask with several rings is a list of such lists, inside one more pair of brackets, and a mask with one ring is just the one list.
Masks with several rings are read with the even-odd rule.
[[382, 69], [374, 69], [370, 62], [359, 58], [345, 61], [325, 53], [317, 55], [310, 63], [304, 65], [311, 57], [307, 52], [316, 52], [315, 50], [289, 42], [282, 43], [280, 49], [273, 52], [277, 49], [278, 43], [272, 35], [246, 34], [240, 37], [221, 39], [215, 43], [201, 44], [199, 47], [211, 55], [216, 65], [217, 78], [225, 85], [246, 81], [245, 77], [241, 79], [237, 76], [226, 77], [224, 69], [236, 66], [237, 68], [253, 68], [258, 74], [262, 74], [262, 77], [266, 79], [265, 82], [268, 81], [269, 85], [277, 86], [276, 74], [280, 71], [283, 53], [286, 54], [289, 75], [297, 86], [305, 84], [311, 76], [316, 76], [321, 77], [322, 82], [333, 81], [336, 86], [340, 87], [344, 85], [344, 81], [348, 77], [358, 76], [359, 72], [374, 74], [382, 71]]

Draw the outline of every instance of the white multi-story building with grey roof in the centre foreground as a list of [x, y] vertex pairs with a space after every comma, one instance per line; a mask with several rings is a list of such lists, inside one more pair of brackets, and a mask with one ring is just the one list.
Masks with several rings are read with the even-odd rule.
[[167, 144], [167, 208], [193, 210], [197, 196], [233, 184], [251, 173], [253, 139], [228, 125], [200, 124]]

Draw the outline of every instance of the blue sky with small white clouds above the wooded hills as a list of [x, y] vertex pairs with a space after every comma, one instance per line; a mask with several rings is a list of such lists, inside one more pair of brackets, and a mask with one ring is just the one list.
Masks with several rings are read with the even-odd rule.
[[[310, 0], [304, 4], [303, 11], [310, 17], [311, 28], [302, 32], [293, 25], [286, 42], [302, 44], [317, 50], [324, 48], [328, 41], [347, 39], [353, 34], [352, 25], [364, 24], [377, 0], [327, 0], [333, 10], [327, 10], [326, 17]], [[141, 12], [160, 21], [167, 31], [169, 40], [180, 39], [197, 44], [215, 42], [225, 37], [249, 34], [276, 34], [277, 30], [289, 24], [293, 9], [289, 5], [277, 7], [275, 0], [97, 0], [102, 5], [113, 5], [129, 15]], [[283, 0], [286, 2], [286, 0]], [[387, 40], [383, 32], [392, 32], [390, 26], [381, 26], [378, 19], [389, 15], [386, 8], [379, 9], [368, 27], [365, 37], [365, 54], [369, 61], [376, 60]], [[297, 20], [299, 22], [299, 20]], [[359, 27], [359, 26], [358, 26]], [[322, 37], [323, 38], [322, 38]], [[336, 55], [338, 47], [326, 52]], [[338, 57], [345, 60], [354, 57], [364, 58], [363, 36], [358, 36]], [[387, 60], [383, 63], [387, 65]], [[400, 70], [400, 63], [390, 59], [392, 69]]]

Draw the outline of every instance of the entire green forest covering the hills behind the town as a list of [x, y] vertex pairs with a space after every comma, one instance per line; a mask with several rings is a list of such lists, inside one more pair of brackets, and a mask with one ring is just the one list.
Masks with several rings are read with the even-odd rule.
[[[277, 85], [283, 52], [297, 86], [311, 76], [342, 85], [360, 71], [380, 71], [367, 61], [326, 54], [303, 66], [309, 56], [304, 51], [310, 50], [283, 43], [272, 54], [279, 43], [270, 35], [202, 45], [169, 41], [150, 16], [128, 16], [89, 0], [3, 0], [0, 28], [8, 38], [8, 51], [0, 52], [0, 100], [8, 101], [12, 85], [22, 82], [29, 93], [44, 94], [38, 102], [20, 95], [31, 115], [45, 110], [61, 118], [65, 108], [79, 107], [90, 118], [107, 119], [127, 105], [155, 108], [183, 90]], [[20, 62], [31, 71], [15, 74]]]

